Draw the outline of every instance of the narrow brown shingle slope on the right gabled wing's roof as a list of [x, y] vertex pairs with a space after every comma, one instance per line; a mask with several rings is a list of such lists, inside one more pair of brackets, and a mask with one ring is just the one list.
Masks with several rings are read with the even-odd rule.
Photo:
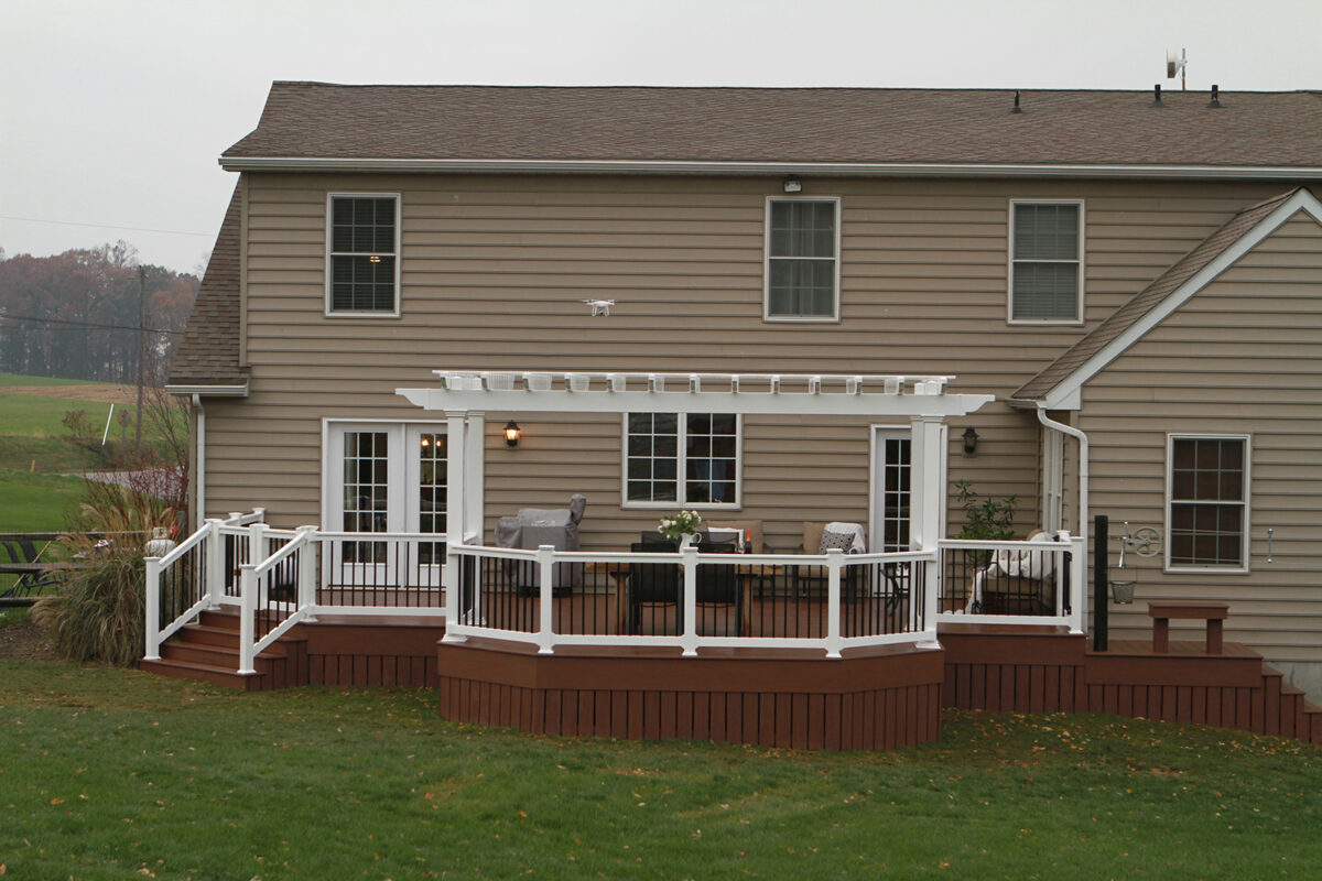
[[1244, 209], [1232, 217], [1225, 226], [1203, 239], [1198, 247], [1161, 273], [1155, 281], [1134, 295], [1129, 302], [1120, 306], [1109, 318], [1097, 325], [1092, 333], [1071, 346], [1063, 355], [1051, 362], [1046, 370], [1010, 395], [1010, 398], [1017, 400], [1040, 400], [1046, 398], [1060, 382], [1081, 367], [1089, 358], [1105, 349], [1108, 343], [1151, 312], [1166, 297], [1175, 293], [1181, 285], [1198, 275], [1203, 267], [1220, 256], [1241, 235], [1257, 226], [1263, 218], [1301, 189], [1303, 188], [1296, 188], [1289, 193]]

